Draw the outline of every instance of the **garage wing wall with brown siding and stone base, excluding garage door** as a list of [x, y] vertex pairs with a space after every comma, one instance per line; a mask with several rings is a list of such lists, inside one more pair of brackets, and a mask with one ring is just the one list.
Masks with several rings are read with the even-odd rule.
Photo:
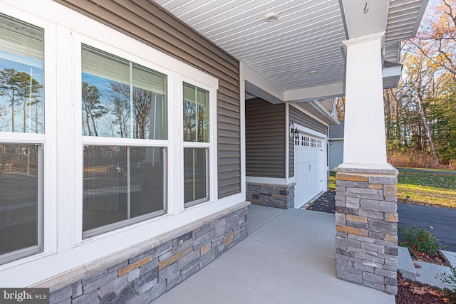
[[[301, 109], [287, 104], [271, 104], [260, 98], [247, 100], [246, 196], [252, 204], [283, 209], [295, 205], [294, 139], [289, 135], [289, 125], [295, 123], [322, 137], [328, 134], [327, 125]], [[323, 148], [324, 169], [327, 164], [326, 147]], [[321, 176], [327, 185], [324, 170]]]

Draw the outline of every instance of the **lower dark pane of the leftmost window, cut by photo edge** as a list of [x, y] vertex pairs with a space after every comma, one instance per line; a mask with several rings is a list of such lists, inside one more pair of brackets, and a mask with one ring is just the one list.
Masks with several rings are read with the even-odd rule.
[[0, 255], [38, 245], [38, 150], [0, 144]]

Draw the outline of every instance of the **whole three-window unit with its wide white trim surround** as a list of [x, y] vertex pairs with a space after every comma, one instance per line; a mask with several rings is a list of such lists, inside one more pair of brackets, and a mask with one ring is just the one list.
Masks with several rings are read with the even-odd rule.
[[35, 2], [0, 9], [0, 272], [30, 284], [58, 274], [30, 269], [61, 253], [78, 267], [229, 200], [217, 204], [217, 78]]

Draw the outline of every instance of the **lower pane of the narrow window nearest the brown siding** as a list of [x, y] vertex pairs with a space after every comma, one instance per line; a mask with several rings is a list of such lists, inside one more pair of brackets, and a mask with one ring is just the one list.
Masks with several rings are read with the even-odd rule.
[[184, 203], [208, 199], [207, 153], [204, 148], [184, 149]]

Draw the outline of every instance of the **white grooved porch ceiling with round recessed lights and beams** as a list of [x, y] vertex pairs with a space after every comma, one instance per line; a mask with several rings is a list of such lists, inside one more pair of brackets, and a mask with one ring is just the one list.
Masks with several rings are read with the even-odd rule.
[[[331, 93], [324, 97], [343, 95], [342, 41], [348, 38], [385, 31], [385, 61], [398, 63], [400, 41], [415, 35], [427, 5], [427, 0], [153, 1], [242, 61], [250, 75], [273, 87], [269, 93], [278, 100], [294, 102], [323, 97], [325, 88]], [[278, 19], [266, 22], [269, 13]]]

